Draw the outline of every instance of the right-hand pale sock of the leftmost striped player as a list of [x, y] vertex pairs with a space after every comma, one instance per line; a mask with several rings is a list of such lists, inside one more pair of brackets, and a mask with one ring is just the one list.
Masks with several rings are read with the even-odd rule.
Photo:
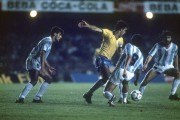
[[36, 96], [34, 97], [34, 99], [39, 100], [44, 95], [44, 93], [47, 91], [48, 86], [49, 86], [49, 83], [43, 82], [39, 88], [39, 91], [36, 93]]

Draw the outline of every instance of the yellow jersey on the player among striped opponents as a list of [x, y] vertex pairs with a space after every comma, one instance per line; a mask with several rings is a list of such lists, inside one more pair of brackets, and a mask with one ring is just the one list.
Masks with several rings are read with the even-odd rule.
[[103, 41], [101, 43], [100, 47], [100, 55], [103, 55], [107, 57], [109, 60], [111, 60], [112, 56], [114, 55], [115, 51], [118, 47], [122, 47], [124, 40], [122, 37], [118, 38], [116, 40], [116, 37], [114, 36], [113, 32], [108, 29], [102, 29], [103, 31]]

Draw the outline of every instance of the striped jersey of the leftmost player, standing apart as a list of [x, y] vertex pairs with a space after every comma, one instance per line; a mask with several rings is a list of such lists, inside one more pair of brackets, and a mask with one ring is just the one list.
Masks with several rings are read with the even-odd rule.
[[39, 43], [31, 50], [27, 60], [26, 60], [26, 69], [41, 69], [40, 53], [42, 50], [45, 51], [45, 58], [47, 59], [52, 46], [51, 37], [45, 37], [39, 41]]

